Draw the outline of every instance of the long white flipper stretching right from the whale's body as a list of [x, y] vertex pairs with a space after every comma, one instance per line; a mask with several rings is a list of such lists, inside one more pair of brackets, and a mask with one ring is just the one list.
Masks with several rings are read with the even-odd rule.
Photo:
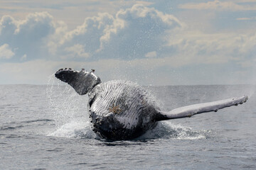
[[159, 111], [159, 115], [157, 116], [156, 120], [159, 121], [176, 118], [186, 118], [200, 113], [206, 113], [211, 111], [216, 112], [221, 108], [238, 106], [238, 104], [245, 103], [247, 99], [247, 96], [241, 96], [238, 98], [229, 98], [222, 101], [213, 101], [209, 103], [199, 103], [191, 106], [183, 106], [181, 108], [175, 108], [174, 110], [169, 112]]

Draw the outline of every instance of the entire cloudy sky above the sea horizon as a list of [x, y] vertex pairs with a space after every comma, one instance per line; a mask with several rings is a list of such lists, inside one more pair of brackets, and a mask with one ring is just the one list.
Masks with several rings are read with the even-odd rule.
[[256, 0], [0, 0], [0, 84], [60, 68], [142, 85], [255, 84]]

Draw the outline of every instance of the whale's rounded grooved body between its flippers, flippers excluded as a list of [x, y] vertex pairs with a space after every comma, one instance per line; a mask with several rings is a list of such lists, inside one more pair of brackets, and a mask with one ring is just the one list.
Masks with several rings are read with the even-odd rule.
[[159, 108], [151, 96], [130, 81], [98, 84], [88, 94], [92, 130], [110, 140], [139, 137], [156, 125]]

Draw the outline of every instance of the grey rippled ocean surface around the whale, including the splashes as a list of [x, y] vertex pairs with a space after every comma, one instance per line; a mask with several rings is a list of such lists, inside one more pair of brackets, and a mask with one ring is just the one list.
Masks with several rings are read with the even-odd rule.
[[255, 86], [145, 86], [162, 111], [247, 94], [247, 103], [102, 140], [87, 95], [64, 84], [0, 86], [0, 169], [256, 169]]

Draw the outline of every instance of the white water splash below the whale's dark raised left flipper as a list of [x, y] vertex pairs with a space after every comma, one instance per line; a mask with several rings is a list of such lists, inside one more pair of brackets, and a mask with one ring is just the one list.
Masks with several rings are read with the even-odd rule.
[[56, 126], [49, 136], [91, 138], [95, 135], [87, 115], [87, 96], [78, 95], [68, 84], [55, 82], [54, 74], [49, 77], [46, 94]]

